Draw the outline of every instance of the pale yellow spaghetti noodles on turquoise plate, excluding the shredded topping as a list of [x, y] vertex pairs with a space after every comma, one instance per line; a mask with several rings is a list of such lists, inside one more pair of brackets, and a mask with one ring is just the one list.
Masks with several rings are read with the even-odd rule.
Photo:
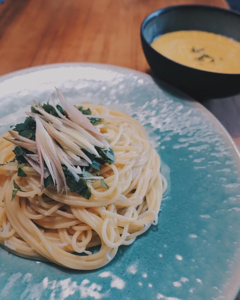
[[[144, 128], [125, 113], [84, 103], [92, 115], [104, 116], [96, 125], [109, 140], [113, 164], [100, 167], [109, 187], [87, 181], [86, 199], [69, 189], [61, 194], [50, 185], [41, 190], [41, 178], [29, 165], [26, 177], [17, 175], [17, 162], [0, 167], [0, 244], [23, 257], [48, 260], [81, 270], [104, 266], [120, 245], [157, 224], [166, 181], [160, 158]], [[9, 138], [9, 133], [3, 135]], [[14, 158], [14, 145], [0, 138], [0, 163]], [[14, 183], [18, 190], [12, 200]], [[97, 253], [91, 247], [100, 245]]]

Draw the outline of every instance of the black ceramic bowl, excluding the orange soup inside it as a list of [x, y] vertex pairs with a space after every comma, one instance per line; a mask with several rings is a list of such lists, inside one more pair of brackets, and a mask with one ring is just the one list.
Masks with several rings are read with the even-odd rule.
[[166, 58], [151, 47], [151, 42], [159, 35], [179, 30], [213, 32], [240, 42], [240, 14], [205, 5], [180, 5], [152, 12], [141, 25], [143, 51], [156, 77], [198, 101], [240, 93], [240, 74], [190, 68]]

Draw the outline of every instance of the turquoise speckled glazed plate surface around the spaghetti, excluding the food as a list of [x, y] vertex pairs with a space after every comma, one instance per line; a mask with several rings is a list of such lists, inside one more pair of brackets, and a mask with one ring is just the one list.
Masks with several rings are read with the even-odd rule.
[[54, 86], [73, 103], [123, 110], [145, 125], [168, 189], [159, 223], [88, 272], [0, 249], [0, 299], [233, 300], [240, 286], [240, 160], [205, 108], [143, 73], [100, 64], [30, 68], [0, 78], [1, 133]]

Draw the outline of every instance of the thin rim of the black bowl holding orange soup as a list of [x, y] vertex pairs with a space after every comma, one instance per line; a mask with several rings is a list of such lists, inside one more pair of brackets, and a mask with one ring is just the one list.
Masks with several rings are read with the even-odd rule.
[[[158, 55], [164, 57], [165, 59], [167, 59], [168, 61], [170, 62], [173, 62], [181, 67], [185, 67], [185, 68], [188, 68], [188, 69], [191, 69], [191, 70], [197, 70], [198, 72], [201, 72], [201, 73], [205, 73], [206, 75], [207, 74], [218, 74], [218, 76], [220, 75], [228, 75], [228, 76], [237, 76], [237, 75], [240, 75], [240, 72], [239, 73], [219, 73], [219, 72], [212, 72], [212, 71], [205, 71], [205, 70], [201, 70], [201, 69], [197, 69], [197, 68], [193, 68], [193, 67], [189, 67], [189, 66], [186, 66], [184, 64], [181, 64], [181, 63], [178, 63], [166, 56], [164, 56], [163, 54], [159, 53], [158, 51], [156, 51], [152, 46], [151, 44], [145, 39], [144, 37], [144, 27], [145, 25], [153, 18], [155, 17], [159, 17], [162, 13], [164, 12], [168, 12], [168, 11], [171, 11], [171, 10], [178, 10], [180, 8], [184, 8], [184, 9], [187, 9], [187, 8], [196, 8], [196, 9], [199, 9], [199, 8], [206, 8], [206, 9], [209, 9], [209, 10], [217, 10], [217, 11], [223, 11], [225, 13], [228, 13], [228, 14], [231, 14], [231, 15], [235, 15], [235, 16], [238, 16], [239, 19], [240, 19], [240, 12], [236, 11], [236, 10], [233, 10], [233, 9], [226, 9], [226, 8], [222, 8], [222, 7], [218, 7], [218, 6], [211, 6], [211, 5], [204, 5], [204, 4], [183, 4], [183, 5], [173, 5], [173, 6], [166, 6], [164, 8], [160, 8], [160, 9], [157, 9], [153, 12], [150, 12], [143, 20], [143, 22], [141, 23], [141, 26], [140, 26], [140, 36], [141, 38], [144, 40], [144, 42], [146, 44], [149, 45], [149, 47], [155, 52], [157, 53]], [[214, 32], [212, 32], [214, 33]], [[239, 42], [240, 43], [240, 42]], [[145, 55], [145, 53], [144, 53]], [[150, 67], [151, 68], [151, 67]]]

